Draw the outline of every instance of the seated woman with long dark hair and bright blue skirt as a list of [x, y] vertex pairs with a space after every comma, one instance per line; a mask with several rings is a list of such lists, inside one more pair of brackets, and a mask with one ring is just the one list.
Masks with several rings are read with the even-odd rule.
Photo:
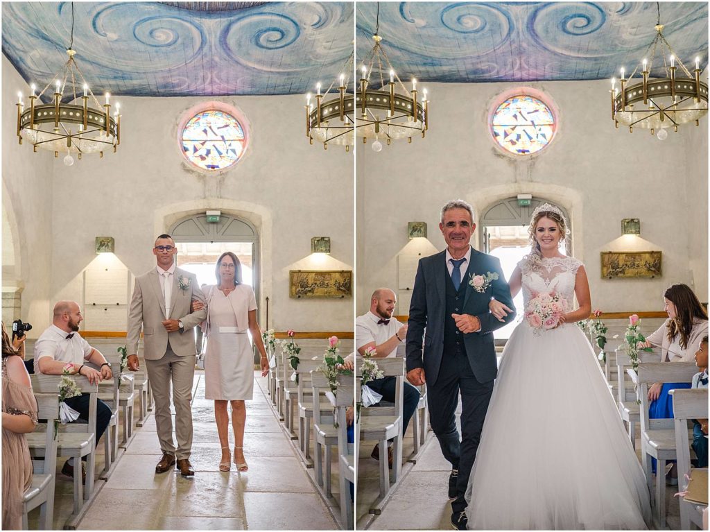
[[[668, 319], [646, 338], [643, 347], [660, 347], [661, 362], [694, 362], [695, 349], [708, 334], [708, 315], [693, 291], [684, 284], [670, 286], [663, 294]], [[668, 391], [690, 388], [690, 383], [655, 383], [648, 389], [648, 417], [672, 418], [673, 400]], [[655, 470], [655, 460], [653, 468]], [[669, 484], [677, 484], [675, 466], [668, 476]]]

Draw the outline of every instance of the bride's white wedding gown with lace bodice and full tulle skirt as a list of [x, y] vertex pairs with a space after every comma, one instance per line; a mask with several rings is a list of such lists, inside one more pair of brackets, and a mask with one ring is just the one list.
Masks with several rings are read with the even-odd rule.
[[[581, 262], [523, 259], [525, 307], [557, 291], [572, 308]], [[648, 488], [589, 341], [576, 324], [515, 328], [503, 351], [466, 490], [469, 528], [647, 528]]]

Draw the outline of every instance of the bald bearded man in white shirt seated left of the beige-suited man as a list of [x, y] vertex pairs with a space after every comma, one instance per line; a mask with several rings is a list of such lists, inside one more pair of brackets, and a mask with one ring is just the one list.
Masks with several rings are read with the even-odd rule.
[[[61, 375], [67, 364], [73, 364], [69, 373], [84, 376], [92, 384], [113, 378], [111, 364], [106, 362], [104, 355], [98, 349], [91, 347], [89, 342], [79, 334], [79, 324], [83, 319], [81, 309], [76, 301], [59, 301], [54, 305], [52, 325], [35, 342], [35, 371], [45, 375]], [[85, 365], [86, 362], [91, 362], [99, 370]], [[67, 398], [64, 402], [77, 411], [81, 419], [88, 420], [88, 393]], [[99, 445], [99, 440], [106, 432], [110, 420], [111, 408], [104, 401], [98, 399], [95, 445]], [[83, 482], [86, 481], [86, 467], [84, 466], [86, 459], [87, 457], [82, 457]], [[62, 467], [62, 474], [74, 477], [74, 466], [74, 459], [70, 458]]]

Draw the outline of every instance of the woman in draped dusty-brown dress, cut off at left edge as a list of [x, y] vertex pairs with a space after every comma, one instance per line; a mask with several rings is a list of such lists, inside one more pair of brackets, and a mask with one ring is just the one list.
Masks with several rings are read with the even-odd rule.
[[37, 424], [37, 401], [19, 356], [26, 337], [11, 342], [2, 324], [2, 528], [22, 528], [22, 497], [32, 483], [32, 462], [25, 433]]

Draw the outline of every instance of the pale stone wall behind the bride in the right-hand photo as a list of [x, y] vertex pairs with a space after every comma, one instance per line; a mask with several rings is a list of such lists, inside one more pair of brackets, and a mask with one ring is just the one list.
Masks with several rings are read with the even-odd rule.
[[[438, 224], [445, 202], [461, 197], [480, 215], [525, 192], [569, 212], [574, 255], [586, 264], [594, 308], [662, 310], [662, 292], [680, 282], [694, 283], [707, 300], [708, 119], [658, 141], [648, 130], [614, 129], [606, 81], [532, 83], [559, 110], [559, 129], [542, 153], [515, 160], [493, 146], [487, 120], [493, 100], [516, 85], [523, 86], [427, 84], [426, 139], [393, 142], [380, 153], [368, 143], [358, 151], [356, 314], [368, 309], [373, 288], [395, 286], [405, 246], [423, 255], [444, 249]], [[640, 219], [640, 238], [622, 237], [623, 218]], [[427, 222], [430, 244], [408, 241], [413, 221]], [[471, 243], [479, 247], [479, 232]], [[663, 276], [601, 279], [599, 253], [622, 250], [662, 251]]]

